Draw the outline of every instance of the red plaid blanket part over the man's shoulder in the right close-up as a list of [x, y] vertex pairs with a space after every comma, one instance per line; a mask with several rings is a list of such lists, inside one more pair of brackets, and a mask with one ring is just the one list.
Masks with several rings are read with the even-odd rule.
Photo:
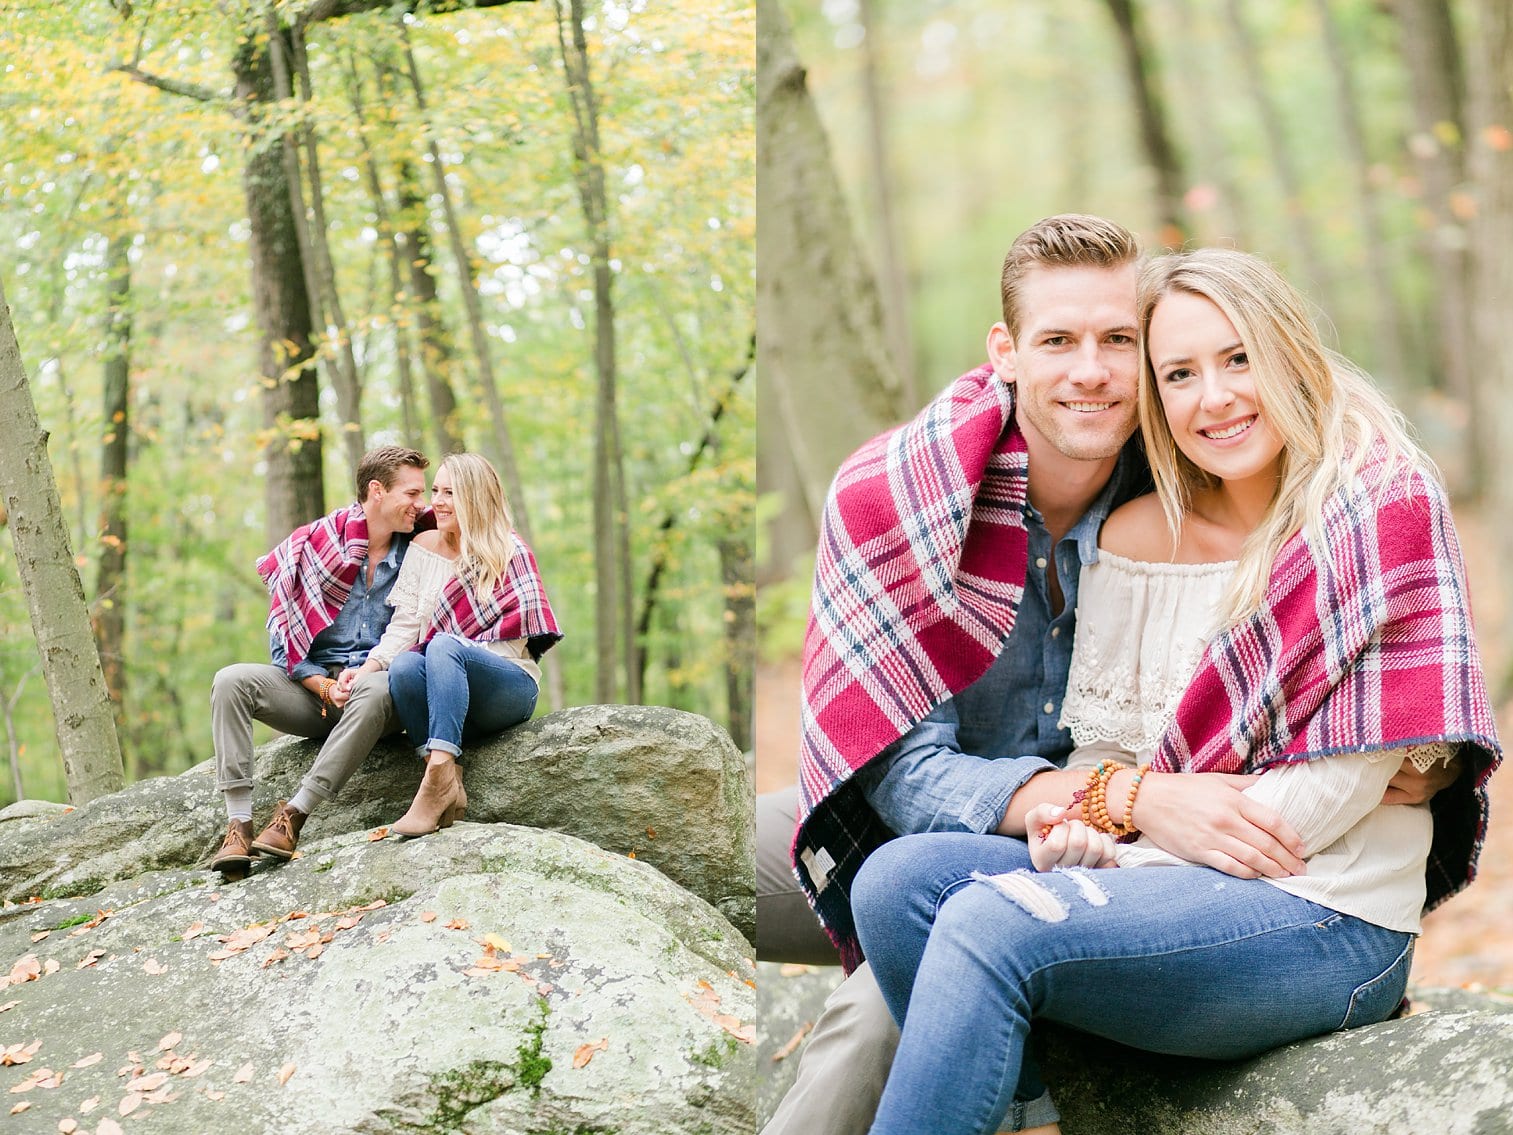
[[793, 863], [847, 970], [852, 878], [893, 837], [852, 773], [986, 673], [1014, 630], [1027, 468], [1014, 387], [980, 366], [847, 459], [825, 502]]

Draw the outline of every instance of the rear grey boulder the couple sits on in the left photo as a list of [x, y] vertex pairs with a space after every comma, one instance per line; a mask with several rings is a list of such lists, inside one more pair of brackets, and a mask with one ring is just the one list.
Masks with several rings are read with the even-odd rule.
[[[318, 748], [281, 739], [259, 749], [259, 823], [294, 794]], [[304, 838], [392, 823], [419, 773], [402, 745], [384, 742]], [[634, 855], [755, 935], [755, 798], [740, 752], [710, 720], [660, 707], [558, 710], [472, 748], [464, 775], [469, 820], [551, 828]], [[77, 810], [17, 811], [0, 813], [0, 897], [12, 900], [207, 863], [225, 832], [209, 763]]]

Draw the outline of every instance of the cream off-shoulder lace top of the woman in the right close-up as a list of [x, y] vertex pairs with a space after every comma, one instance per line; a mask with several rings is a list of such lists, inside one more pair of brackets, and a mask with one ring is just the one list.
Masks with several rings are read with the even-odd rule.
[[[1144, 764], [1215, 631], [1235, 563], [1144, 563], [1098, 551], [1082, 569], [1077, 637], [1061, 723], [1077, 749], [1068, 769], [1114, 758]], [[1428, 805], [1383, 805], [1387, 781], [1410, 757], [1421, 770], [1449, 745], [1319, 757], [1275, 767], [1245, 790], [1303, 837], [1307, 875], [1266, 879], [1341, 914], [1419, 932]], [[1148, 837], [1120, 844], [1120, 867], [1182, 866]]]

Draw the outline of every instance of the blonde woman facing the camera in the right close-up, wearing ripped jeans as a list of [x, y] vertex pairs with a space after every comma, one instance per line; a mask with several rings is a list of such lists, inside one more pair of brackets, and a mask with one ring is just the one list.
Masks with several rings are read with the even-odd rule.
[[[1474, 870], [1498, 743], [1428, 460], [1254, 257], [1153, 262], [1139, 319], [1157, 492], [1109, 518], [1085, 569], [1064, 708], [1079, 763], [1103, 760], [1077, 798], [1027, 813], [1033, 852], [914, 835], [856, 878], [903, 1026], [879, 1135], [1024, 1129], [1044, 1106], [1033, 1018], [1213, 1058], [1383, 1020], [1421, 910]], [[1457, 751], [1466, 775], [1433, 816], [1380, 804], [1404, 754]], [[1147, 757], [1156, 773], [1129, 767]], [[1247, 794], [1298, 829], [1307, 872], [1115, 850], [1162, 770], [1265, 770]], [[1050, 866], [1070, 869], [1032, 870]]]

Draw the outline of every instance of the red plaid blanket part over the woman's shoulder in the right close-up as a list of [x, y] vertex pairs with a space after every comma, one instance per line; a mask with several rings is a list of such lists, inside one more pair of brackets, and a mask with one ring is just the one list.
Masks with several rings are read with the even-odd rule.
[[1324, 554], [1294, 536], [1260, 611], [1215, 637], [1153, 767], [1257, 772], [1341, 752], [1459, 742], [1434, 796], [1430, 910], [1475, 875], [1501, 761], [1443, 489], [1374, 462], [1324, 510]]

